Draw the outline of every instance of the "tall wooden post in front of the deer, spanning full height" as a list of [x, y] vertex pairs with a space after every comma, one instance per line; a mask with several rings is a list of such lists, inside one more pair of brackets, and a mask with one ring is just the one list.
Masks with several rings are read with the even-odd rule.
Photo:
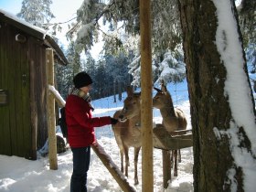
[[150, 0], [140, 0], [142, 79], [142, 191], [154, 191]]

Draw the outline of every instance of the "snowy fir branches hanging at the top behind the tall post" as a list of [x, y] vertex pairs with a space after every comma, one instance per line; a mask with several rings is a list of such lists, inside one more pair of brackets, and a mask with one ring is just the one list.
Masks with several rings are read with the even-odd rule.
[[[173, 51], [181, 42], [181, 28], [178, 18], [177, 1], [152, 2], [152, 45], [155, 62], [153, 62], [153, 75], [161, 74], [157, 63], [161, 63], [168, 51]], [[101, 19], [102, 18], [102, 19]], [[109, 31], [103, 31], [100, 21], [109, 25]], [[116, 54], [119, 49], [126, 52], [139, 51], [139, 1], [138, 0], [85, 0], [78, 10], [77, 25], [69, 31], [76, 34], [77, 48], [88, 50], [97, 41], [99, 33], [103, 31], [105, 54]], [[136, 48], [133, 48], [136, 47]], [[175, 53], [172, 53], [173, 55]], [[133, 75], [133, 85], [140, 85], [140, 52], [135, 54], [133, 62], [129, 65], [130, 74]], [[158, 56], [161, 57], [158, 57]], [[176, 67], [176, 65], [173, 65]], [[161, 71], [160, 71], [161, 72]], [[174, 73], [170, 73], [172, 76]], [[181, 74], [181, 73], [176, 73]], [[184, 78], [184, 74], [179, 79]], [[166, 78], [166, 74], [165, 74]], [[173, 80], [176, 77], [169, 77]], [[156, 79], [157, 80], [157, 79]]]

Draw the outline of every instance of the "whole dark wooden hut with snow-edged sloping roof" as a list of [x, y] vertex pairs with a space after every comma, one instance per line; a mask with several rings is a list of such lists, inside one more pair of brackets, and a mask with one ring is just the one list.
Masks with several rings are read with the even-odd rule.
[[46, 48], [68, 64], [44, 30], [0, 9], [0, 155], [35, 160], [48, 138]]

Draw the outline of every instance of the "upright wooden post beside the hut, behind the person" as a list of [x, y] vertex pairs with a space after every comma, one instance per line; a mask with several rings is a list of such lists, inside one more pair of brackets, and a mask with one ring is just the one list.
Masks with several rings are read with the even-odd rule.
[[[54, 58], [53, 50], [51, 48], [46, 49], [46, 66], [47, 66], [47, 79], [48, 85], [54, 85]], [[53, 170], [58, 169], [57, 161], [57, 139], [56, 139], [56, 123], [55, 123], [55, 101], [53, 94], [47, 89], [48, 95], [48, 159], [49, 168]]]

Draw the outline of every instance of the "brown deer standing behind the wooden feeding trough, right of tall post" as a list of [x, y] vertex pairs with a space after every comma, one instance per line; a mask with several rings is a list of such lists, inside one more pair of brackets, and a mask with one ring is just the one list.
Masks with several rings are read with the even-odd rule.
[[[154, 88], [156, 92], [153, 98], [153, 107], [160, 110], [163, 117], [163, 125], [167, 132], [175, 132], [180, 130], [186, 130], [187, 119], [184, 112], [174, 107], [172, 96], [165, 87], [165, 83], [162, 81], [161, 90]], [[180, 150], [172, 150], [171, 160], [173, 162], [174, 156], [174, 176], [177, 176], [177, 154], [178, 161], [181, 161]]]

